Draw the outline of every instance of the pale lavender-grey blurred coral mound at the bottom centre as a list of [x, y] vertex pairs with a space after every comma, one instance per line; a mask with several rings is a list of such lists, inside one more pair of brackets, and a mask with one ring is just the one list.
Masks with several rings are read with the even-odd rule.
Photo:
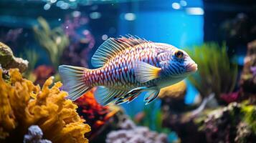
[[130, 119], [125, 119], [120, 130], [107, 135], [107, 143], [165, 143], [166, 134], [152, 132], [147, 127], [137, 127]]

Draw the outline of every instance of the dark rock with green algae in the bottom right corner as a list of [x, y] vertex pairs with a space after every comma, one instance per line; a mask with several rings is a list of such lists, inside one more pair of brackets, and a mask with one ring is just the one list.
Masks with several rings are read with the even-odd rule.
[[200, 128], [207, 142], [254, 142], [256, 107], [235, 102], [210, 112]]

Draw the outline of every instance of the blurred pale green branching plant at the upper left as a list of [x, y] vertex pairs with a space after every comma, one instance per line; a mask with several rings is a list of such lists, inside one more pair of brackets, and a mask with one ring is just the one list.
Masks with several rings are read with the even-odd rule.
[[51, 29], [42, 17], [38, 18], [39, 25], [34, 26], [34, 36], [39, 44], [47, 50], [52, 64], [57, 69], [60, 65], [60, 57], [69, 44], [69, 39], [60, 26]]

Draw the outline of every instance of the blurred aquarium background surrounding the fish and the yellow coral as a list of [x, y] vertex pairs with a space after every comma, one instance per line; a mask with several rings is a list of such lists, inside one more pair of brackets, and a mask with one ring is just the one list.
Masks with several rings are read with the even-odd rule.
[[29, 61], [0, 64], [41, 87], [60, 64], [93, 68], [98, 46], [125, 34], [184, 49], [199, 71], [149, 105], [100, 107], [88, 93], [76, 104], [90, 142], [255, 142], [256, 1], [0, 0], [0, 41]]

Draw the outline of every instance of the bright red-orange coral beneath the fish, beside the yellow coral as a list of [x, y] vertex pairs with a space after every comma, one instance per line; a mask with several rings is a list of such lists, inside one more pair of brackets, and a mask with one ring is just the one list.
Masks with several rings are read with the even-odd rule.
[[75, 101], [78, 105], [80, 115], [82, 115], [87, 124], [90, 124], [92, 128], [90, 139], [93, 139], [96, 134], [99, 134], [100, 129], [120, 110], [118, 107], [113, 107], [114, 105], [103, 107], [98, 104], [94, 97], [94, 91], [95, 89], [86, 92], [82, 97]]

